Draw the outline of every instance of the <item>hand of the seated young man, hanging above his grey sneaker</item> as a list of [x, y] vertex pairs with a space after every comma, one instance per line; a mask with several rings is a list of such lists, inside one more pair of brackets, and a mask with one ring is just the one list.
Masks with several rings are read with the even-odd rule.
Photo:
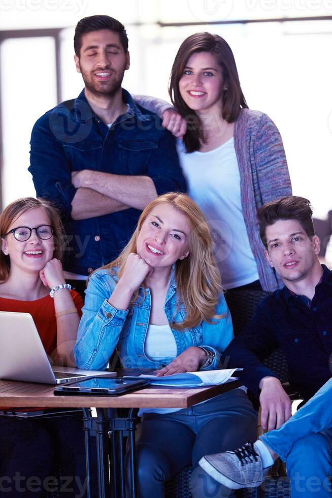
[[264, 377], [260, 383], [261, 426], [278, 429], [291, 417], [291, 401], [281, 382], [275, 377]]

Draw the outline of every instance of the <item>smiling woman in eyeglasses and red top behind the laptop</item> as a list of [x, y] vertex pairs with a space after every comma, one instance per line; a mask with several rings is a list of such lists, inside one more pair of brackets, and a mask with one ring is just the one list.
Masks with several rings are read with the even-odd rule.
[[[42, 199], [19, 199], [0, 215], [0, 235], [0, 311], [30, 313], [48, 356], [55, 364], [75, 366], [73, 347], [83, 301], [64, 280], [63, 230], [56, 210]], [[79, 479], [82, 485], [85, 480], [82, 414], [40, 419], [19, 418], [19, 411], [16, 415], [0, 417], [0, 475], [8, 478], [0, 497], [16, 496], [16, 473], [24, 496], [44, 496], [54, 461], [63, 466], [64, 476], [73, 476], [70, 486], [79, 493]], [[29, 489], [32, 476], [40, 486]]]

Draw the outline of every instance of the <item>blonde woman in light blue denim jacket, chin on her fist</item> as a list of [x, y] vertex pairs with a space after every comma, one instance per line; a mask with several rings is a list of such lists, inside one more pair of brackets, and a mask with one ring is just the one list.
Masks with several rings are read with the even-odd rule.
[[[188, 196], [170, 193], [150, 202], [120, 256], [90, 276], [78, 366], [105, 369], [116, 349], [124, 368], [160, 368], [159, 376], [218, 368], [233, 327], [211, 247], [206, 220]], [[149, 408], [139, 415], [140, 498], [162, 498], [164, 482], [188, 464], [195, 498], [230, 495], [197, 464], [211, 448], [225, 451], [255, 437], [257, 415], [242, 389], [189, 409]]]

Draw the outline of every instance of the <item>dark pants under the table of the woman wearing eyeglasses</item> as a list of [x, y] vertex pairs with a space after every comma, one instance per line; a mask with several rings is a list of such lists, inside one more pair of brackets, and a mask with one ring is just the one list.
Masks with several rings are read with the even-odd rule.
[[[0, 498], [86, 496], [82, 413], [52, 418], [0, 417]], [[58, 476], [60, 468], [61, 476]]]

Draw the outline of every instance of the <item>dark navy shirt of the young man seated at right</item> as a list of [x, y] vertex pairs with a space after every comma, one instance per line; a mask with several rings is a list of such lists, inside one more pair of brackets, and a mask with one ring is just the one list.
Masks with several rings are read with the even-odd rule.
[[225, 367], [243, 367], [244, 384], [258, 393], [263, 377], [277, 377], [261, 361], [281, 348], [289, 382], [305, 399], [332, 375], [332, 271], [325, 265], [313, 300], [284, 287], [257, 306], [251, 322], [225, 349]]

